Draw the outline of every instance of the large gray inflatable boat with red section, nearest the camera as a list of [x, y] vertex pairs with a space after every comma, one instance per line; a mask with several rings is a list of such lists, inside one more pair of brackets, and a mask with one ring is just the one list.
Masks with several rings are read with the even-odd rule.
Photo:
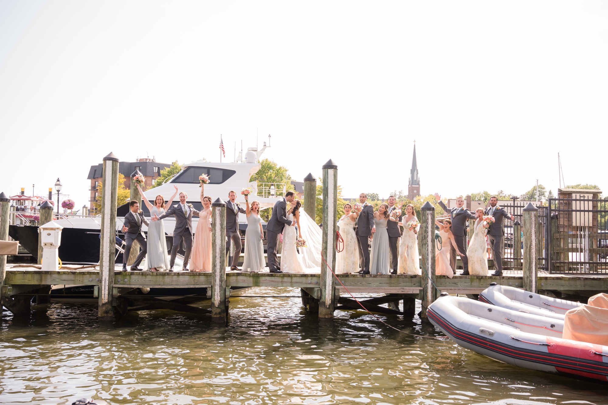
[[531, 312], [443, 292], [427, 315], [449, 338], [480, 355], [524, 369], [608, 383], [608, 346], [563, 339], [564, 320]]

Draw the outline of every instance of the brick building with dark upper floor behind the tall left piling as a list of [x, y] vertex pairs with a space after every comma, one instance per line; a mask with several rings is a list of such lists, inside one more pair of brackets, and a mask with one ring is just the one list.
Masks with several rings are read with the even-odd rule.
[[[118, 164], [119, 173], [125, 176], [126, 189], [131, 187], [131, 173], [134, 171], [139, 170], [145, 177], [143, 190], [147, 190], [152, 187], [154, 181], [161, 175], [161, 170], [167, 167], [171, 167], [171, 164], [156, 162], [154, 157], [151, 159], [150, 157], [140, 157], [135, 162], [119, 162]], [[91, 166], [89, 170], [87, 179], [91, 181], [91, 185], [89, 185], [89, 192], [91, 192], [91, 197], [89, 198], [90, 209], [93, 209], [93, 202], [97, 198], [97, 185], [102, 181], [102, 168], [103, 164], [100, 163]]]

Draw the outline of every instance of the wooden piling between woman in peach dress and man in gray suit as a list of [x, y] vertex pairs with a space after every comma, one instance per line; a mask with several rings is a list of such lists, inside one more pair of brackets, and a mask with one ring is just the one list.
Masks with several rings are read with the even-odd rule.
[[211, 319], [226, 323], [226, 202], [211, 204]]

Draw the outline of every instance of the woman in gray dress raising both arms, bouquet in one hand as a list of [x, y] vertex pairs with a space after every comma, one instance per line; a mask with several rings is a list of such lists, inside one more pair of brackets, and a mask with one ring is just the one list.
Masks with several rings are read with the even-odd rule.
[[[173, 187], [175, 188], [175, 193], [173, 193], [169, 199], [167, 206], [171, 206], [171, 202], [173, 202], [175, 196], [178, 195], [178, 187], [176, 185]], [[150, 211], [150, 216], [154, 216], [155, 214], [161, 216], [165, 213], [165, 198], [162, 195], [156, 196], [153, 206], [146, 198], [142, 188], [139, 187], [139, 184], [137, 184], [137, 189], [142, 196], [143, 202], [145, 202], [146, 207], [148, 207], [148, 210]], [[162, 221], [150, 221], [146, 240], [148, 241], [148, 254], [146, 255], [145, 271], [161, 271], [161, 269], [167, 271], [170, 266], [169, 256], [167, 254], [167, 240], [165, 239], [165, 225]]]

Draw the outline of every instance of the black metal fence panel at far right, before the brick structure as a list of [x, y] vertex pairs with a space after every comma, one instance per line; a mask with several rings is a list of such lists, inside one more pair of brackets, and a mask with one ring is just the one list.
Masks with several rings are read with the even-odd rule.
[[608, 200], [550, 198], [548, 269], [556, 274], [608, 274]]

